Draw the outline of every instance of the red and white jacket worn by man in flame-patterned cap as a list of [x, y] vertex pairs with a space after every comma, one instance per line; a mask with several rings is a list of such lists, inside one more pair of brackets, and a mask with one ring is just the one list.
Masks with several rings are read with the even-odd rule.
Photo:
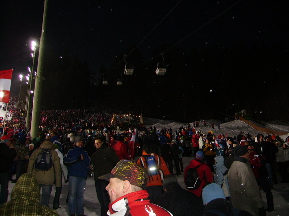
[[160, 206], [149, 202], [146, 190], [126, 194], [109, 204], [108, 215], [117, 216], [173, 216]]

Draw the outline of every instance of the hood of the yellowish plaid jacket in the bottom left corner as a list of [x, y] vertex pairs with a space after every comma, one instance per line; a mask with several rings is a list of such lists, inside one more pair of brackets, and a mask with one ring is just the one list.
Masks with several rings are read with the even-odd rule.
[[39, 185], [35, 175], [25, 173], [20, 176], [11, 192], [11, 200], [12, 199], [29, 199], [31, 201], [39, 202]]

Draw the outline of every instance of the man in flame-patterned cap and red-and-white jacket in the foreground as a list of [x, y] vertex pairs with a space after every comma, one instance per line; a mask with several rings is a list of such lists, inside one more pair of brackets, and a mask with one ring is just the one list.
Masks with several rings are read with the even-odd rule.
[[145, 169], [133, 161], [120, 160], [109, 174], [99, 177], [109, 179], [106, 190], [111, 203], [108, 215], [115, 216], [173, 216], [167, 210], [149, 202]]

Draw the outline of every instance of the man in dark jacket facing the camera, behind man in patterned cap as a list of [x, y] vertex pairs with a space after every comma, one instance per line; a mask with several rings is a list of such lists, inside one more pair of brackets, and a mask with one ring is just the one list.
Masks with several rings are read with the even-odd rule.
[[109, 195], [106, 191], [108, 181], [98, 179], [98, 177], [109, 173], [119, 161], [114, 149], [107, 147], [104, 136], [95, 137], [94, 144], [96, 152], [91, 156], [90, 169], [94, 172], [95, 189], [98, 202], [101, 207], [101, 216], [107, 216], [108, 205], [110, 203]]

